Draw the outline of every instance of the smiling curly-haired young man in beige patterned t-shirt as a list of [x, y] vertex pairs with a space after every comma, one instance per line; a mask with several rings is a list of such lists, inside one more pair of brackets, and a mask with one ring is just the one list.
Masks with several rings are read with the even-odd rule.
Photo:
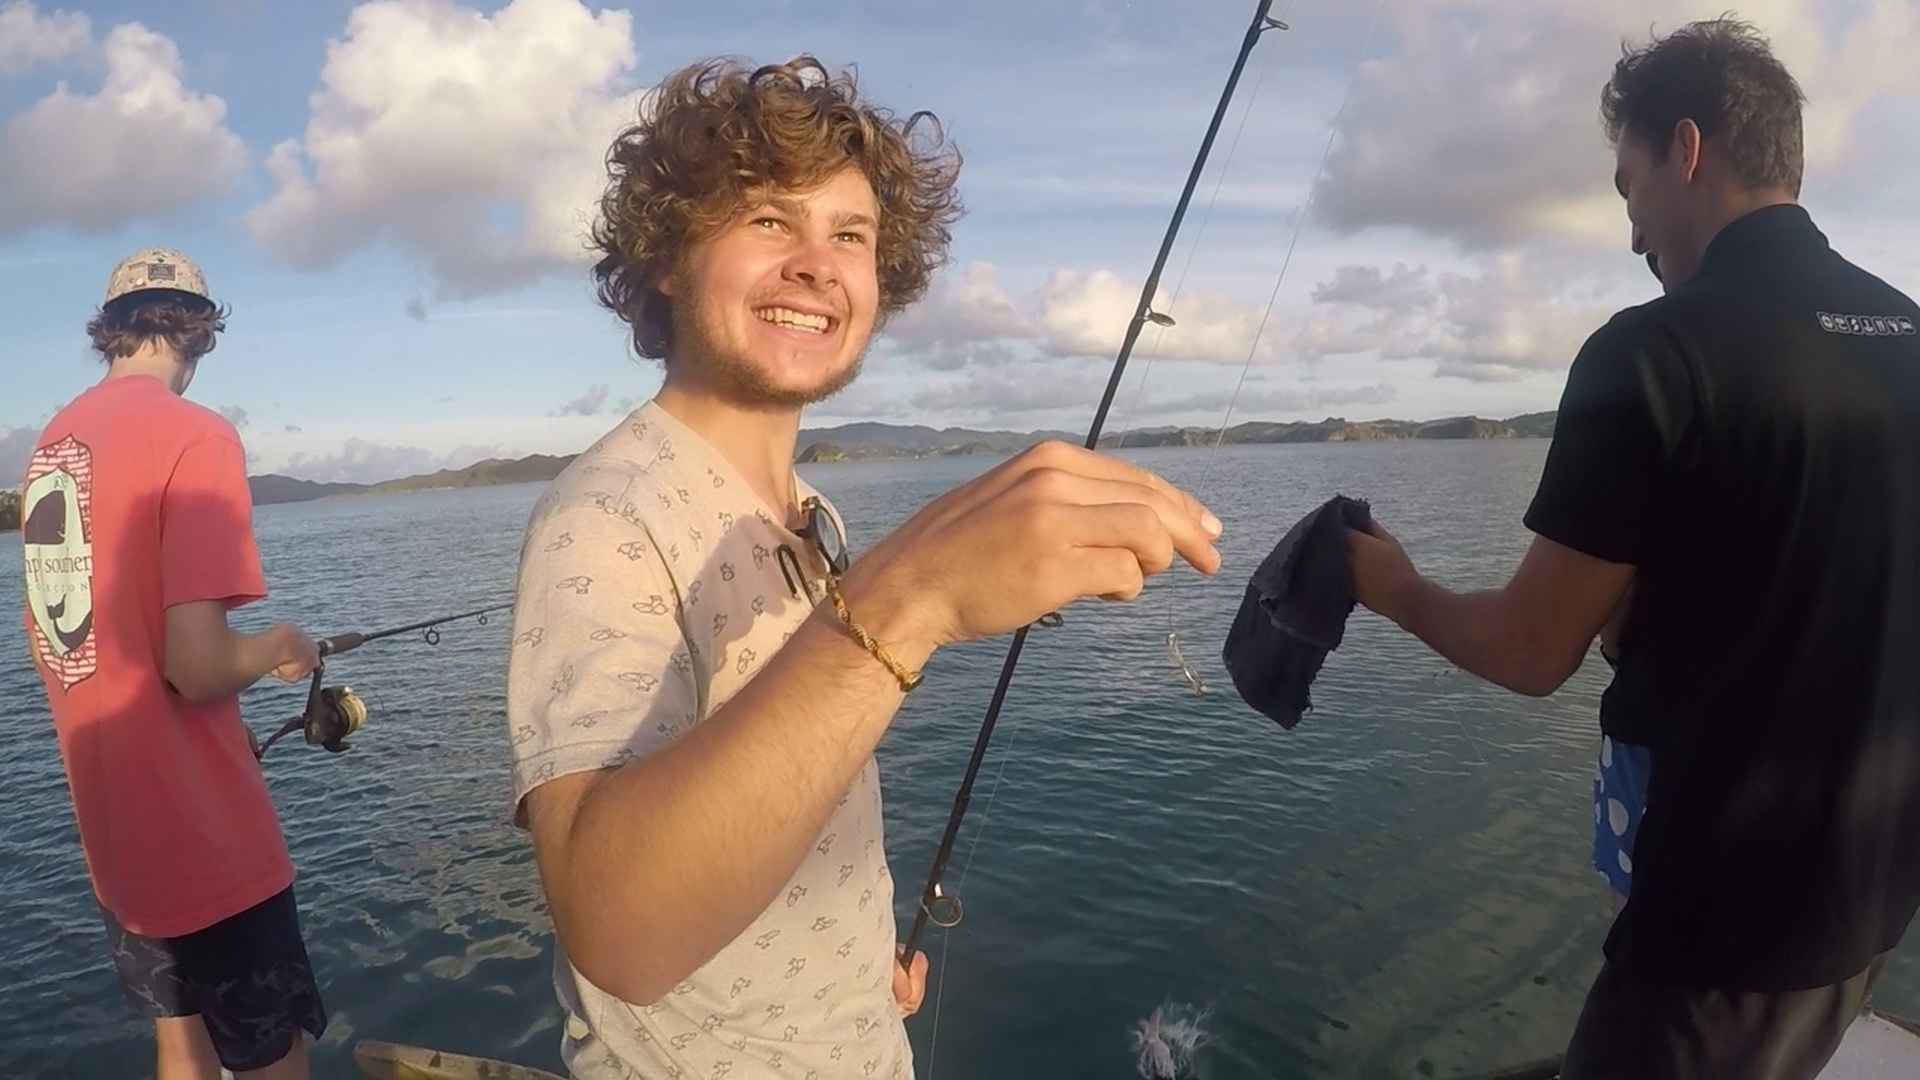
[[574, 1076], [912, 1076], [874, 748], [920, 669], [1219, 567], [1192, 498], [1060, 444], [849, 565], [793, 452], [945, 259], [918, 131], [810, 58], [710, 61], [609, 154], [601, 300], [666, 379], [534, 509], [507, 692]]

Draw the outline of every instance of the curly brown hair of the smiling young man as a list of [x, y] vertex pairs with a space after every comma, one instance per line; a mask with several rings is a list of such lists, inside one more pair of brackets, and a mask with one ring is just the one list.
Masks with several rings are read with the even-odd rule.
[[[664, 359], [672, 309], [657, 282], [689, 242], [726, 225], [774, 188], [806, 190], [858, 167], [879, 204], [877, 321], [920, 300], [947, 263], [948, 227], [960, 217], [960, 152], [939, 117], [904, 121], [862, 104], [851, 73], [812, 56], [749, 71], [732, 58], [668, 75], [651, 111], [607, 152], [607, 190], [591, 246], [599, 302], [634, 329], [639, 356]], [[933, 133], [918, 138], [929, 121]]]

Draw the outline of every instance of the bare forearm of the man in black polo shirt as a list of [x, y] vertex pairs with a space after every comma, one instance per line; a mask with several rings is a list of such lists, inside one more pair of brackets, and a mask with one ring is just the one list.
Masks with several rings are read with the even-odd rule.
[[1386, 615], [1461, 671], [1519, 694], [1551, 694], [1571, 673], [1565, 657], [1542, 653], [1542, 636], [1513, 617], [1501, 588], [1450, 592], [1419, 578]]

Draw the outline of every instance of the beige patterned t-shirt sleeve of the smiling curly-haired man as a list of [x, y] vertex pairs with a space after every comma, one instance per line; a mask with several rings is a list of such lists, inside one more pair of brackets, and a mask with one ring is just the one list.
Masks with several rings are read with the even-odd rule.
[[680, 601], [653, 534], [622, 498], [536, 509], [520, 552], [507, 661], [513, 817], [570, 773], [678, 742], [701, 715]]

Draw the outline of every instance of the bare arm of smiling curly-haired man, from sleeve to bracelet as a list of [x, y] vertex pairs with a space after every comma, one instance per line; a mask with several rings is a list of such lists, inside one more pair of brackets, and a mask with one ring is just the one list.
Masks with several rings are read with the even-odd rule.
[[[918, 667], [925, 651], [899, 659]], [[599, 776], [549, 863], [582, 972], [649, 1003], [737, 938], [791, 880], [900, 700], [822, 607], [685, 738]]]

